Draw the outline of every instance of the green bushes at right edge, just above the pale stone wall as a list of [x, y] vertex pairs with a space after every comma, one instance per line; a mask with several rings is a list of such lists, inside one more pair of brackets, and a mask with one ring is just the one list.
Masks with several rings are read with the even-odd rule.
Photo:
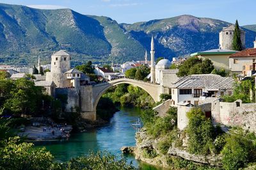
[[234, 102], [237, 99], [241, 99], [243, 103], [251, 103], [254, 99], [250, 99], [250, 90], [253, 92], [254, 88], [254, 79], [244, 80], [241, 82], [236, 82], [234, 85], [234, 93], [232, 96], [223, 96], [225, 102]]

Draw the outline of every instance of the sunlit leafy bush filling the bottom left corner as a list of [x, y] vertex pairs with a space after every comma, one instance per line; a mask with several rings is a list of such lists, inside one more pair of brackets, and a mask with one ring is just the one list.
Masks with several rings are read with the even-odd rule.
[[51, 169], [53, 157], [45, 148], [33, 148], [32, 143], [20, 143], [18, 137], [0, 141], [0, 169]]

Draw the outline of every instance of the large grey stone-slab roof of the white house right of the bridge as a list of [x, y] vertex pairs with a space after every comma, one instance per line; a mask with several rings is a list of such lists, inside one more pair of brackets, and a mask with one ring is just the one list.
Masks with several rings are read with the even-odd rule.
[[234, 79], [231, 77], [221, 77], [217, 74], [193, 74], [179, 78], [171, 84], [172, 88], [194, 89], [205, 88], [207, 90], [232, 89]]

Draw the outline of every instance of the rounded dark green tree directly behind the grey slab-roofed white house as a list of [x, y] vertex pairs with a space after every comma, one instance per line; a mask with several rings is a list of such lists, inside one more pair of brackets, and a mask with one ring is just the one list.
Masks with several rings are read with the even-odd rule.
[[190, 57], [179, 66], [177, 76], [188, 76], [191, 74], [209, 74], [214, 69], [212, 61], [209, 59], [199, 59], [198, 57]]

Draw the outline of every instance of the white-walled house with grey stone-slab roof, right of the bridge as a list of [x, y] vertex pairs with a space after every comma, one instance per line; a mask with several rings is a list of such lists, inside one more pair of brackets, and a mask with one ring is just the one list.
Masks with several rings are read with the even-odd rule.
[[172, 83], [173, 104], [191, 103], [198, 105], [207, 97], [232, 95], [234, 79], [217, 74], [194, 74], [184, 76]]

